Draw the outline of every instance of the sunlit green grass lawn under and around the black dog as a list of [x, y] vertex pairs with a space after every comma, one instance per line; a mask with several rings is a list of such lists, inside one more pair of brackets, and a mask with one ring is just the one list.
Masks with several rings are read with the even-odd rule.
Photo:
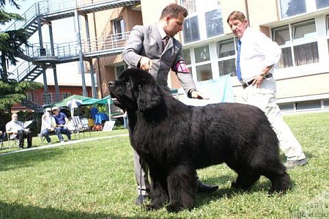
[[198, 174], [220, 189], [199, 194], [191, 211], [145, 211], [134, 205], [129, 137], [112, 137], [0, 156], [0, 218], [329, 218], [329, 113], [284, 119], [308, 157], [306, 166], [289, 170], [293, 188], [285, 195], [269, 196], [264, 177], [249, 192], [234, 193], [236, 174], [216, 165]]

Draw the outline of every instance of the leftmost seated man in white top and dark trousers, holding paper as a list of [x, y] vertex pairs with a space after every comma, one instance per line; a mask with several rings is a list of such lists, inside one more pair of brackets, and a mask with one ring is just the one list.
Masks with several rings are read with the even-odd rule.
[[23, 122], [18, 121], [19, 115], [12, 113], [12, 121], [5, 124], [5, 131], [10, 139], [17, 137], [19, 139], [19, 148], [23, 148], [24, 139], [27, 139], [27, 148], [32, 147], [32, 132], [24, 128]]

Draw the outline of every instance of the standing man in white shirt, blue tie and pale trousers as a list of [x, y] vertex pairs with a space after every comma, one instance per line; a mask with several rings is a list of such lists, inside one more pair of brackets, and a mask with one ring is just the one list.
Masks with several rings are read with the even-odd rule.
[[307, 159], [293, 132], [282, 119], [276, 104], [276, 81], [272, 71], [281, 56], [280, 47], [261, 32], [248, 27], [242, 12], [234, 11], [228, 16], [236, 43], [236, 76], [243, 91], [240, 102], [258, 106], [267, 115], [273, 130], [278, 135], [280, 149], [287, 157], [286, 168], [305, 165]]

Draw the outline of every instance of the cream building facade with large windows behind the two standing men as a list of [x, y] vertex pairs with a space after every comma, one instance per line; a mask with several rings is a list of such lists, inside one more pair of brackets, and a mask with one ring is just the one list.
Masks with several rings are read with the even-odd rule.
[[[133, 8], [95, 13], [95, 34], [129, 32], [136, 24], [156, 23], [169, 3], [188, 10], [184, 30], [176, 37], [195, 82], [230, 74], [234, 95], [242, 91], [235, 77], [236, 38], [226, 23], [230, 12], [240, 10], [250, 27], [282, 49], [274, 71], [282, 111], [329, 109], [329, 0], [141, 0]], [[126, 65], [119, 55], [94, 62], [99, 95], [108, 95], [108, 81]], [[169, 87], [180, 87], [174, 73]]]

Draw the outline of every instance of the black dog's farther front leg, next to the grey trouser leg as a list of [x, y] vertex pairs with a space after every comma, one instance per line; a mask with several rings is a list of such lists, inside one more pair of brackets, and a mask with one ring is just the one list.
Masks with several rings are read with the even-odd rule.
[[149, 168], [151, 176], [151, 205], [147, 209], [160, 209], [168, 201], [167, 176], [161, 170]]

